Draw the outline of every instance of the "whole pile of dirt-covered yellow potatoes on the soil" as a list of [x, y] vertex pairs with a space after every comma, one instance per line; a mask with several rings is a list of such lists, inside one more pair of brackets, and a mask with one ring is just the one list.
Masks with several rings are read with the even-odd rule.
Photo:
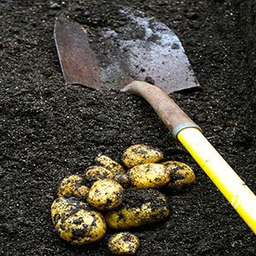
[[100, 154], [83, 176], [65, 177], [51, 206], [59, 236], [80, 246], [99, 241], [108, 228], [120, 230], [108, 241], [111, 253], [136, 253], [140, 241], [127, 230], [156, 223], [170, 213], [159, 188], [181, 190], [195, 182], [189, 166], [161, 162], [163, 158], [158, 148], [137, 144], [125, 150], [124, 166]]

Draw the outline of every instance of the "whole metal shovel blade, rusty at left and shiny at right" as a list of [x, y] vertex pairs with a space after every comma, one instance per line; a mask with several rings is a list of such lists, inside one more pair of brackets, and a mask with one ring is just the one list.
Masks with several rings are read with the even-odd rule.
[[141, 80], [168, 94], [199, 86], [182, 43], [168, 26], [120, 12], [126, 15], [124, 25], [98, 28], [96, 52], [83, 26], [64, 17], [56, 20], [55, 43], [67, 84], [121, 90], [132, 80]]

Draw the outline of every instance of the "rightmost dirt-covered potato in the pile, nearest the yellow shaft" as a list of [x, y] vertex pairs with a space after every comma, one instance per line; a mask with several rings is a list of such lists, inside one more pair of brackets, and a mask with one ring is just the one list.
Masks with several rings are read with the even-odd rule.
[[195, 183], [195, 173], [188, 165], [179, 161], [167, 161], [163, 165], [171, 172], [170, 189], [181, 190]]

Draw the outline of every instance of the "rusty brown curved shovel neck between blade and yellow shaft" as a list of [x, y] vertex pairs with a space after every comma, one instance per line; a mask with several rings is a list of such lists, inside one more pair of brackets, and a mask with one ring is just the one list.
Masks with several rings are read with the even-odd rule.
[[126, 85], [122, 91], [142, 96], [151, 107], [154, 108], [154, 111], [172, 132], [172, 136], [175, 138], [179, 131], [187, 127], [194, 127], [201, 130], [200, 127], [177, 106], [166, 92], [152, 84], [142, 81], [133, 81], [131, 84]]

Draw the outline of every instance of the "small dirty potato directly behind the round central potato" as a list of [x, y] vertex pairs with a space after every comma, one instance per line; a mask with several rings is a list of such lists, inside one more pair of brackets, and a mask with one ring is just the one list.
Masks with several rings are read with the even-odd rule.
[[89, 183], [94, 183], [96, 180], [104, 178], [113, 178], [113, 173], [102, 166], [90, 166], [85, 171], [85, 180]]

